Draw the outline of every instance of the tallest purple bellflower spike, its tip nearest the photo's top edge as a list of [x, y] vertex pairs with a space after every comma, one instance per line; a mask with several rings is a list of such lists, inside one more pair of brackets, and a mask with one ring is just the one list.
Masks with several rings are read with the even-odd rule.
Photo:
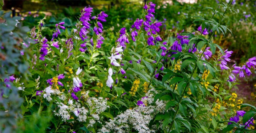
[[156, 35], [160, 31], [159, 27], [162, 26], [162, 22], [154, 22], [153, 24], [150, 25], [150, 22], [152, 22], [151, 18], [154, 17], [153, 13], [155, 13], [154, 3], [150, 2], [149, 5], [145, 5], [143, 8], [147, 12], [147, 15], [145, 16], [146, 21], [143, 22], [144, 30], [147, 31], [147, 35], [149, 36], [149, 38], [147, 38], [147, 44], [149, 46], [155, 45], [157, 41], [162, 41], [162, 38]]

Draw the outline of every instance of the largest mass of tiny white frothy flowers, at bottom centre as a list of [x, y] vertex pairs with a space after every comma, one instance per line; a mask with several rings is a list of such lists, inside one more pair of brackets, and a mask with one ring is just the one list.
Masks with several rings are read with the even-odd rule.
[[113, 120], [106, 122], [104, 126], [99, 130], [102, 133], [114, 132], [114, 133], [125, 133], [129, 132], [129, 125], [137, 130], [139, 133], [154, 133], [155, 126], [149, 127], [150, 121], [153, 119], [155, 106], [153, 104], [154, 95], [157, 93], [155, 89], [150, 89], [145, 97], [141, 100], [146, 106], [137, 106], [133, 109], [128, 109], [121, 113]]

